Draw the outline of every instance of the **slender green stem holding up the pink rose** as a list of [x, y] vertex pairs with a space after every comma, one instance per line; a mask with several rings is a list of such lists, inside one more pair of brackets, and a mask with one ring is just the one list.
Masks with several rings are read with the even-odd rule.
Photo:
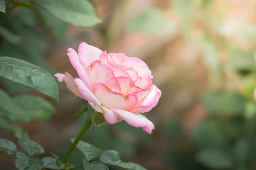
[[71, 156], [73, 150], [76, 148], [76, 145], [78, 144], [78, 142], [81, 140], [81, 138], [84, 136], [84, 134], [87, 132], [87, 130], [90, 128], [91, 125], [92, 125], [92, 120], [89, 119], [88, 122], [84, 125], [81, 132], [76, 137], [75, 141], [73, 142], [73, 144], [71, 145], [69, 150], [67, 151], [67, 154], [66, 154], [63, 162], [67, 163], [67, 161], [70, 159], [70, 156]]

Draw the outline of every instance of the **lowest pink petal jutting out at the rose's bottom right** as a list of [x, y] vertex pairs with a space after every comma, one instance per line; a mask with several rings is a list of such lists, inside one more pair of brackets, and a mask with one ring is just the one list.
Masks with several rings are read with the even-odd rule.
[[125, 122], [134, 127], [142, 127], [147, 133], [151, 134], [154, 130], [154, 125], [145, 116], [139, 113], [131, 113], [128, 111], [123, 111], [121, 109], [110, 109], [114, 113], [118, 114]]

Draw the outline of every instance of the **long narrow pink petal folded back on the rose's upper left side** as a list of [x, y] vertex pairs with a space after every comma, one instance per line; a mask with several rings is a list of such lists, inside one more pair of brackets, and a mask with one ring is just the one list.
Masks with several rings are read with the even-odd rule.
[[90, 79], [89, 79], [87, 73], [85, 72], [83, 66], [81, 65], [76, 51], [73, 48], [68, 48], [67, 55], [70, 59], [71, 64], [76, 69], [76, 72], [79, 75], [80, 79], [84, 82], [84, 84], [87, 86], [87, 88], [89, 88], [89, 90], [91, 91], [92, 87], [90, 84]]

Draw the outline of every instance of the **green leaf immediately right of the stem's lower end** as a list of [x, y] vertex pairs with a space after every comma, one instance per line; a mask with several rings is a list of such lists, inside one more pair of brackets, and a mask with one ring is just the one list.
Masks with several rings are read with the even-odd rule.
[[[75, 139], [71, 139], [72, 143], [74, 141]], [[102, 150], [84, 141], [79, 141], [76, 147], [81, 151], [88, 161], [99, 158], [100, 154], [102, 153]]]

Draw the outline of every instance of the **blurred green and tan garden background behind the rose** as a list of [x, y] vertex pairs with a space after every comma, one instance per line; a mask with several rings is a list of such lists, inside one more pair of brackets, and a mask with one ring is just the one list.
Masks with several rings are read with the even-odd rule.
[[[145, 61], [162, 91], [145, 116], [149, 135], [126, 122], [89, 130], [84, 141], [117, 150], [123, 161], [148, 170], [256, 170], [256, 1], [255, 0], [90, 0], [103, 23], [68, 25], [38, 9], [17, 7], [0, 14], [0, 24], [22, 37], [13, 45], [0, 37], [0, 56], [23, 59], [52, 75], [76, 75], [67, 48], [87, 42], [103, 51]], [[10, 96], [33, 94], [55, 107], [47, 121], [15, 123], [46, 153], [64, 157], [86, 115], [86, 105], [57, 82], [60, 101], [0, 78]], [[15, 130], [13, 130], [15, 131]], [[17, 136], [17, 134], [16, 134]], [[17, 143], [14, 133], [0, 137]], [[71, 163], [82, 159], [75, 151]], [[0, 169], [14, 170], [15, 155], [0, 153]]]

